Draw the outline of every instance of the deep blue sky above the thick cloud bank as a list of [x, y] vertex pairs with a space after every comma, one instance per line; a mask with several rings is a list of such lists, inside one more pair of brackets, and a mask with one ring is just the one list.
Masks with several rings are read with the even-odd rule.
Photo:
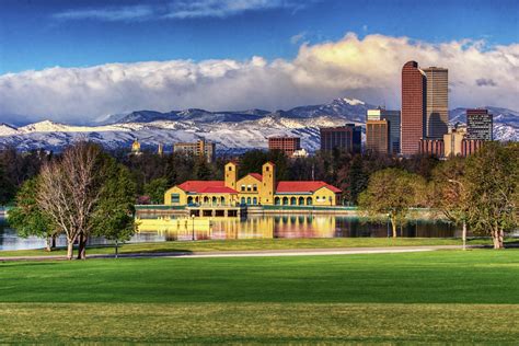
[[0, 0], [0, 74], [147, 60], [287, 59], [303, 42], [337, 41], [347, 32], [508, 45], [518, 42], [518, 3]]

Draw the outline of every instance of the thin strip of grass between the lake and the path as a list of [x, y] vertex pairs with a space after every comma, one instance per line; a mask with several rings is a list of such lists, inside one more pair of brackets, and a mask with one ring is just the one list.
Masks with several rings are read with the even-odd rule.
[[[489, 239], [470, 239], [469, 245], [491, 245]], [[517, 239], [508, 239], [508, 244], [519, 244]], [[120, 253], [164, 253], [164, 252], [210, 252], [286, 249], [336, 249], [336, 247], [383, 247], [420, 245], [461, 245], [455, 238], [333, 238], [333, 239], [245, 239], [174, 241], [161, 243], [138, 243], [120, 246]], [[113, 246], [90, 247], [88, 254], [113, 254]], [[65, 255], [65, 250], [0, 251], [0, 257]]]

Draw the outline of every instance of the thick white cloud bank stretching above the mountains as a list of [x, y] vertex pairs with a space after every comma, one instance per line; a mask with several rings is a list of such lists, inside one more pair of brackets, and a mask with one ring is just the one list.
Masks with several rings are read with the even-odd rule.
[[0, 76], [0, 116], [78, 122], [135, 109], [288, 108], [349, 96], [400, 107], [401, 69], [449, 69], [450, 107], [519, 109], [519, 44], [442, 44], [348, 33], [300, 46], [292, 60], [171, 60], [49, 68]]

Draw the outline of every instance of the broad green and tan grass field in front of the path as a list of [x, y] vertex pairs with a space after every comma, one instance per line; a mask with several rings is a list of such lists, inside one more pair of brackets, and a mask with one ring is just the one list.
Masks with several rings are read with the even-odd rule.
[[0, 343], [519, 339], [519, 251], [0, 264]]

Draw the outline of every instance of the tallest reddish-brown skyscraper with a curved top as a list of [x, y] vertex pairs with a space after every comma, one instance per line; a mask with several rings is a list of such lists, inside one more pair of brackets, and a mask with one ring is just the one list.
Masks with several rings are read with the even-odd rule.
[[408, 61], [402, 68], [401, 152], [418, 153], [419, 141], [426, 137], [427, 77], [418, 62]]

